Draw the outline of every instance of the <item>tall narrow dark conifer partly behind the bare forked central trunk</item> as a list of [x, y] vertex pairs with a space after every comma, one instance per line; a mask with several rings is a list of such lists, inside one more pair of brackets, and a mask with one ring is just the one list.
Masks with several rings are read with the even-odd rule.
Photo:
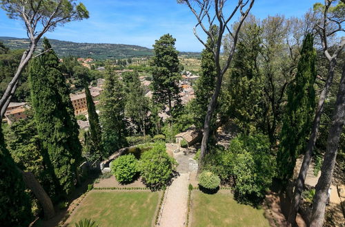
[[[212, 34], [217, 34], [217, 26], [213, 25], [213, 27], [210, 28], [210, 32], [212, 32]], [[213, 50], [215, 47], [215, 43], [213, 43], [210, 38], [207, 39], [206, 45], [210, 50]], [[204, 129], [208, 102], [210, 102], [210, 98], [215, 90], [217, 76], [217, 73], [215, 72], [215, 58], [213, 57], [213, 53], [208, 48], [205, 48], [201, 52], [201, 73], [193, 87], [195, 90], [195, 99], [191, 101], [193, 103], [191, 105], [191, 112], [194, 119], [193, 123], [197, 129]], [[212, 125], [214, 128], [215, 118], [213, 118]]]

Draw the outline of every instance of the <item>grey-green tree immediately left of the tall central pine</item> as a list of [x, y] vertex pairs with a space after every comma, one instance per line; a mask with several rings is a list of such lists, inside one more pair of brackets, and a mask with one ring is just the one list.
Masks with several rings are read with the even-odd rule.
[[150, 100], [145, 96], [144, 87], [141, 86], [137, 72], [125, 72], [122, 78], [126, 91], [125, 116], [136, 126], [135, 132], [146, 136], [146, 128], [150, 120], [148, 114]]

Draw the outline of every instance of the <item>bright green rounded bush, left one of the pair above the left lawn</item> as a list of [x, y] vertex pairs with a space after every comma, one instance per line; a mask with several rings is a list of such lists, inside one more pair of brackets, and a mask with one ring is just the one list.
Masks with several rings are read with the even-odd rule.
[[134, 155], [121, 155], [119, 158], [112, 161], [112, 174], [120, 183], [131, 182], [138, 173], [137, 163], [138, 161]]

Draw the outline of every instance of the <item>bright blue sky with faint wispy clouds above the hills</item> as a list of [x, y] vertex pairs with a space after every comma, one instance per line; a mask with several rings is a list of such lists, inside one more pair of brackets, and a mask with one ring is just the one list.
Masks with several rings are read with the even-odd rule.
[[[235, 0], [228, 0], [229, 2]], [[163, 34], [177, 39], [179, 51], [201, 51], [193, 34], [196, 19], [186, 5], [176, 0], [81, 0], [90, 18], [73, 21], [47, 33], [50, 39], [83, 43], [124, 43], [152, 48]], [[263, 19], [285, 14], [301, 17], [315, 0], [256, 0], [251, 13]], [[8, 19], [0, 9], [0, 36], [26, 37], [20, 20]]]

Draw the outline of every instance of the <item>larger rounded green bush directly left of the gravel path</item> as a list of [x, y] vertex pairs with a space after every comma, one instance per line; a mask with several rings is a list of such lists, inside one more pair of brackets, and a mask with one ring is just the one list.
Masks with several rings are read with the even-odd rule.
[[156, 143], [144, 152], [139, 161], [139, 171], [145, 184], [152, 189], [166, 186], [172, 178], [177, 162], [166, 153], [164, 143]]

